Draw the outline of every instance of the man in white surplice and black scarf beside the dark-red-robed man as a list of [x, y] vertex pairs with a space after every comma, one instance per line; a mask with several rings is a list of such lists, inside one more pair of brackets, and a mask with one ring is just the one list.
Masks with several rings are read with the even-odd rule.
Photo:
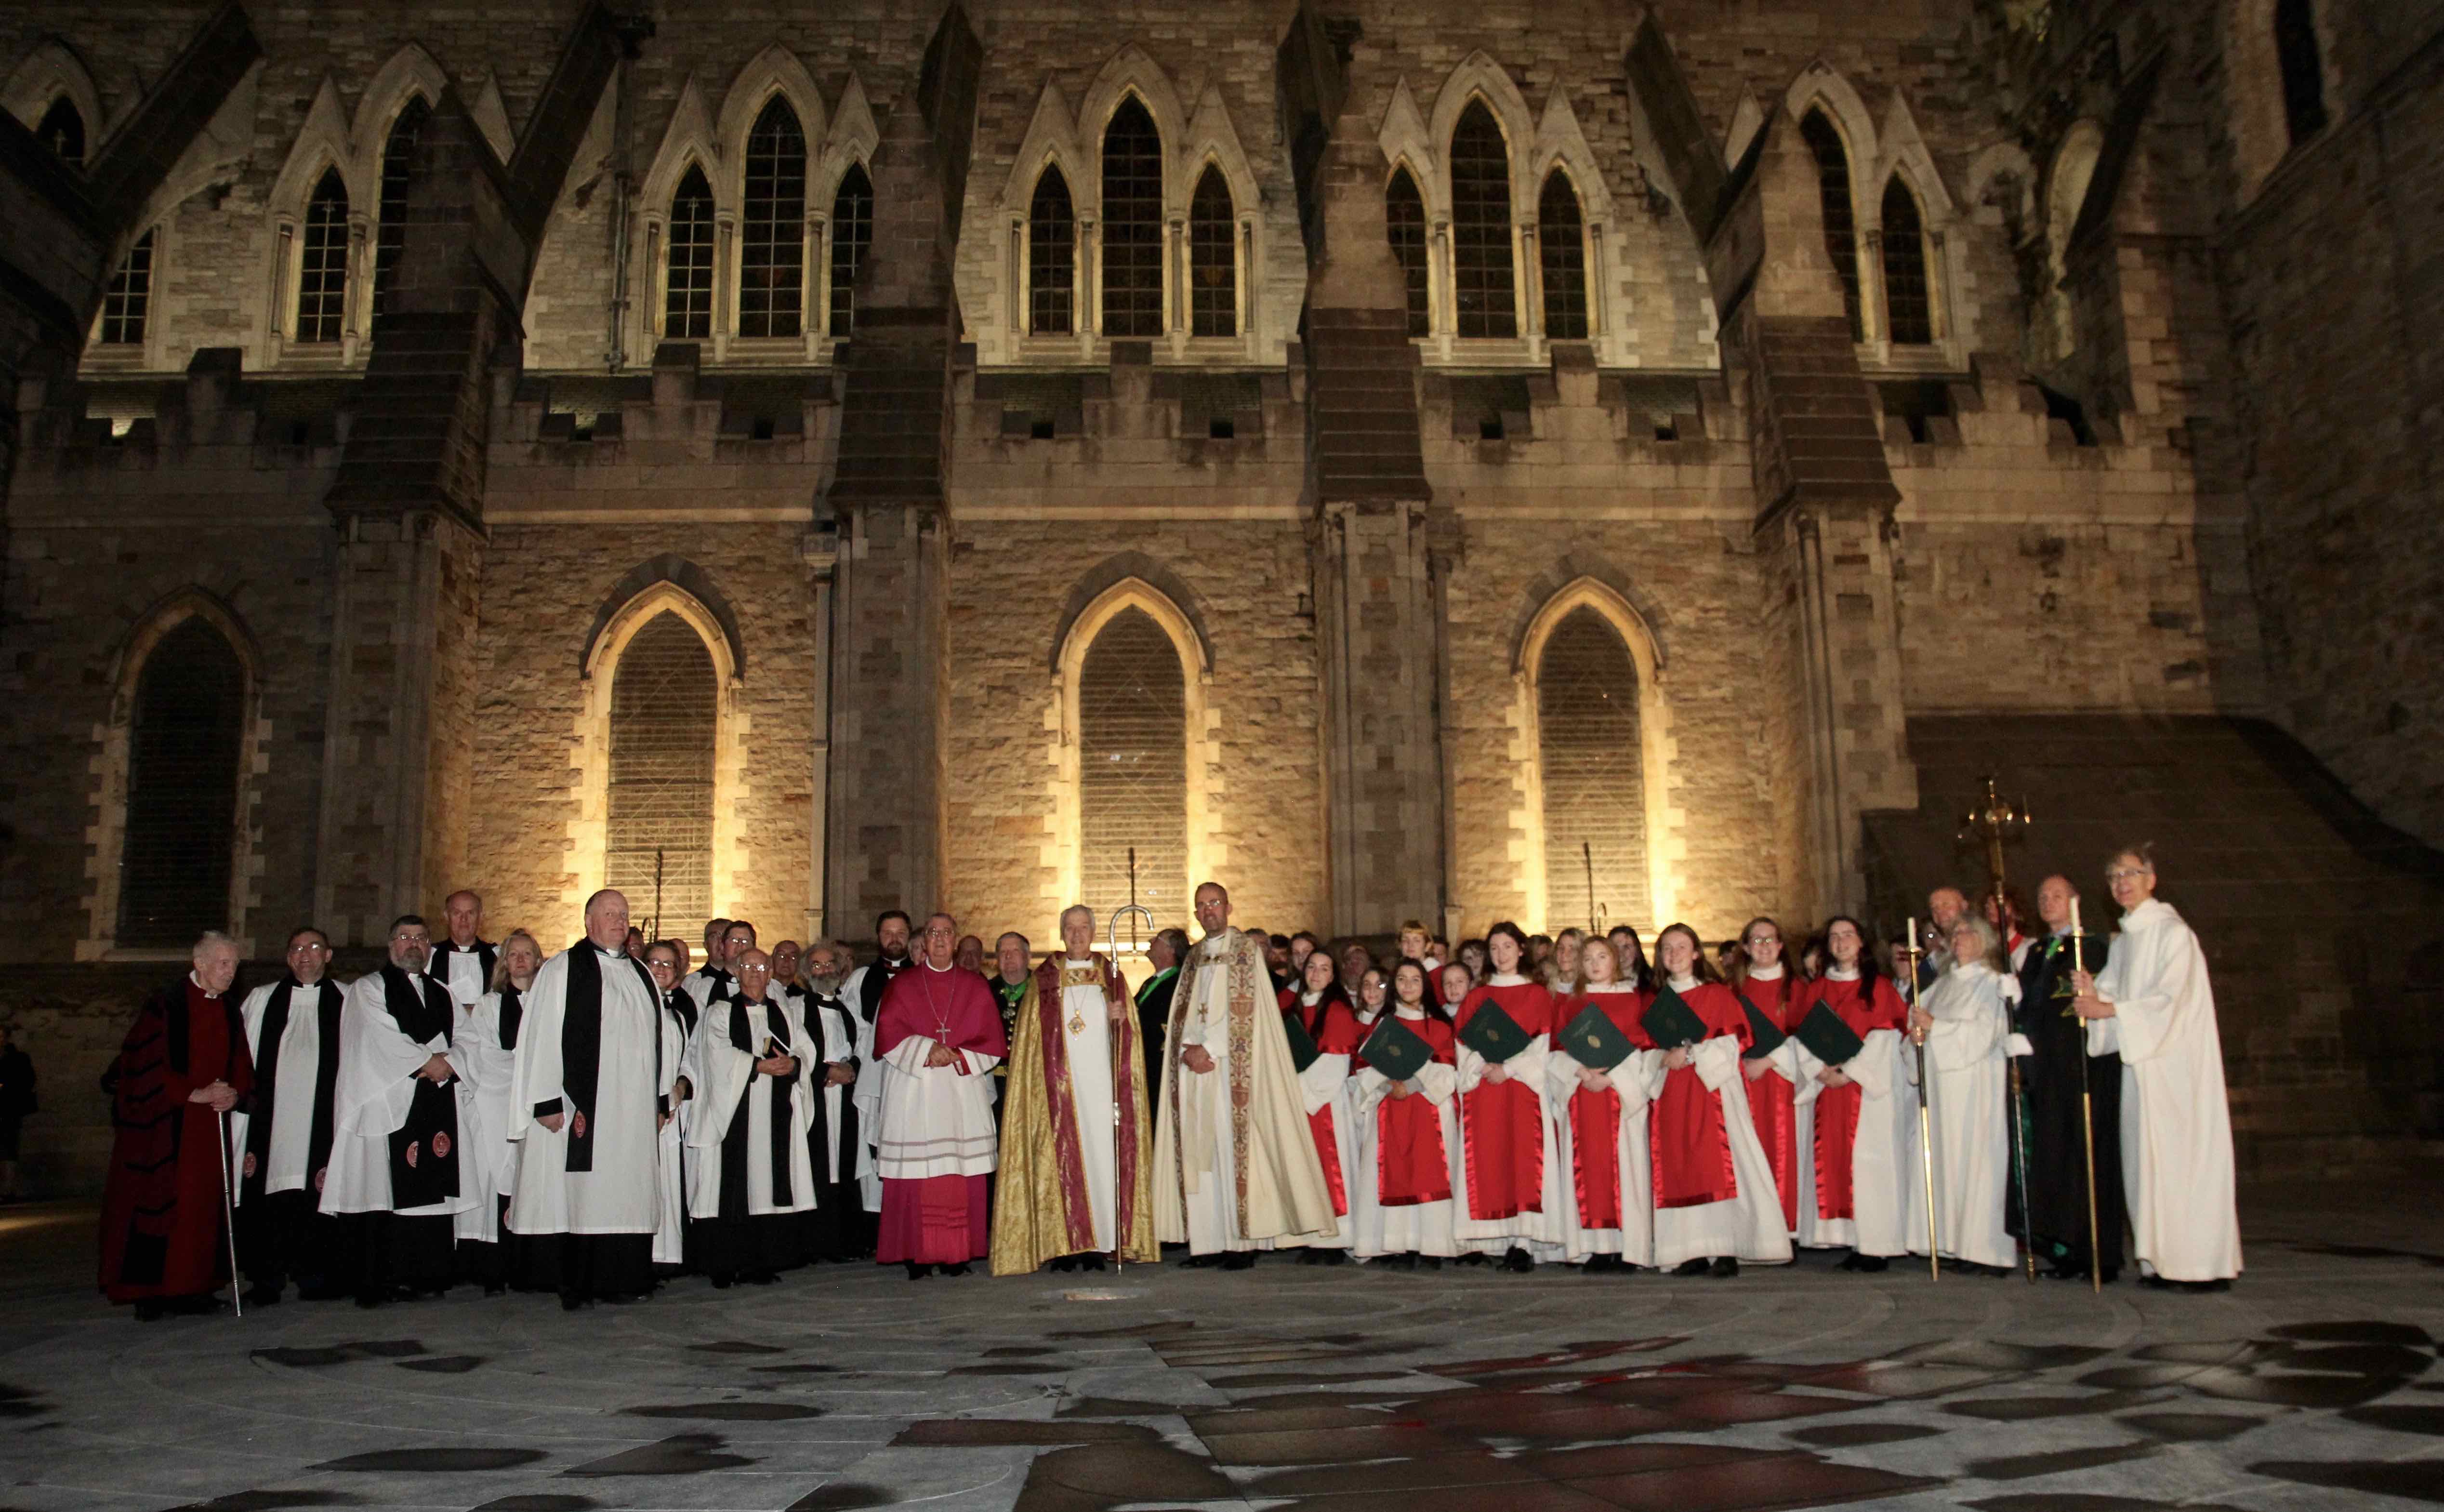
[[291, 1280], [308, 1302], [345, 1297], [357, 1275], [345, 1226], [315, 1212], [340, 1094], [342, 992], [330, 980], [330, 940], [301, 928], [286, 960], [288, 972], [240, 1006], [254, 1058], [254, 1107], [230, 1119], [247, 1307], [279, 1302]]

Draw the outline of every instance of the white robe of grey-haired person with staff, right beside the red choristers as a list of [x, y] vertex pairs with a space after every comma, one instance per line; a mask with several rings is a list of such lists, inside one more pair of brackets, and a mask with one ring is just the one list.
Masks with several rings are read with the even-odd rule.
[[[2002, 1204], [2011, 1182], [2007, 1048], [2019, 977], [1953, 965], [1926, 989], [1928, 1114], [1936, 1150], [1936, 1241], [1945, 1258], [2019, 1263]], [[1916, 1053], [1904, 1070], [1916, 1077]], [[1909, 1182], [1909, 1253], [1926, 1253], [1926, 1182]]]

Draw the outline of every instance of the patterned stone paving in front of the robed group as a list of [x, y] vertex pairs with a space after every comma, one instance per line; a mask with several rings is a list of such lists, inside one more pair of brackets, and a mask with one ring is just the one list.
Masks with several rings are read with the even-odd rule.
[[[0, 1510], [1733, 1512], [2444, 1502], [2444, 1204], [2253, 1194], [2224, 1297], [1826, 1258], [298, 1304], [137, 1326], [0, 1212]], [[1070, 1280], [1075, 1285], [1058, 1285]]]

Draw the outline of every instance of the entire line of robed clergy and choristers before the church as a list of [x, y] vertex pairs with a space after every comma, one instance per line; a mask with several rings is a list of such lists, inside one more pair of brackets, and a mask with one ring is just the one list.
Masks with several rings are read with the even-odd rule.
[[[2002, 1273], [2014, 1053], [2043, 1155], [2021, 1229], [2055, 1273], [2119, 1268], [2126, 1212], [2151, 1282], [2229, 1285], [2204, 958], [2143, 850], [2107, 879], [2121, 933], [2075, 933], [2075, 894], [2048, 879], [2051, 933], [2019, 970], [1965, 909], [1938, 918], [1923, 982], [1879, 970], [1853, 918], [1826, 926], [1821, 975], [1760, 918], [1728, 980], [1669, 926], [1652, 967], [1635, 936], [1589, 938], [1567, 982], [1532, 980], [1501, 923], [1481, 980], [1405, 953], [1366, 1001], [1322, 953], [1281, 989], [1212, 882], [1202, 940], [1163, 931], [1134, 1004], [1085, 906], [1061, 950], [987, 984], [946, 914], [885, 914], [855, 970], [829, 943], [802, 962], [785, 945], [775, 970], [753, 926], [714, 921], [684, 972], [684, 948], [640, 948], [618, 892], [550, 958], [523, 931], [481, 940], [462, 892], [442, 943], [403, 916], [347, 987], [327, 938], [298, 931], [286, 975], [235, 1009], [240, 948], [208, 933], [105, 1080], [103, 1290], [137, 1317], [218, 1309], [235, 1270], [249, 1304], [291, 1280], [367, 1307], [477, 1280], [577, 1309], [682, 1268], [716, 1287], [863, 1256], [1014, 1275], [1163, 1246], [1232, 1270], [1295, 1248], [1738, 1275], [1804, 1246], [1848, 1248], [1853, 1270], [1933, 1251]], [[2114, 1177], [2095, 1234], [2085, 1177], [2060, 1170], [2085, 1138], [2065, 1143], [2073, 1085], [2097, 1094]]]

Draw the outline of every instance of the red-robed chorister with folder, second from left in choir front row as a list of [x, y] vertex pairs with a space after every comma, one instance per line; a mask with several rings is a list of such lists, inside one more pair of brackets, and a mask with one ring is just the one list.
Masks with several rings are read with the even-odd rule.
[[[1452, 970], [1466, 970], [1457, 962]], [[1415, 1270], [1459, 1253], [1452, 1236], [1452, 1165], [1459, 1155], [1459, 1070], [1452, 1023], [1432, 1009], [1425, 965], [1391, 970], [1391, 1016], [1432, 1050], [1415, 1077], [1393, 1082], [1359, 1058], [1349, 1077], [1359, 1158], [1349, 1168], [1349, 1216], [1361, 1260]]]

